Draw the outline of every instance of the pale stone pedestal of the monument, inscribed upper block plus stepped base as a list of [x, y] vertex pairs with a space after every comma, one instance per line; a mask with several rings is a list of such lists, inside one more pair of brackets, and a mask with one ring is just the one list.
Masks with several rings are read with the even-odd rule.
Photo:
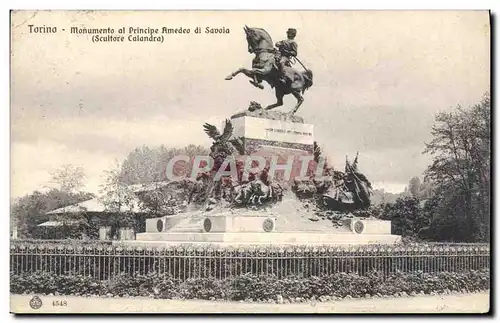
[[[291, 175], [283, 178], [283, 182], [299, 175], [303, 160], [308, 160], [302, 156], [313, 154], [314, 126], [300, 117], [258, 109], [234, 115], [231, 123], [233, 136], [243, 140], [248, 154], [262, 156], [267, 162], [272, 157], [280, 166], [288, 164], [290, 156], [294, 157]], [[283, 173], [284, 168], [280, 167]], [[279, 176], [275, 180], [281, 182]], [[312, 221], [311, 215], [295, 197], [283, 197], [267, 210], [227, 208], [148, 219], [146, 232], [138, 233], [136, 240], [126, 243], [352, 245], [393, 244], [401, 240], [391, 234], [390, 221], [346, 219], [338, 227], [330, 220]]]

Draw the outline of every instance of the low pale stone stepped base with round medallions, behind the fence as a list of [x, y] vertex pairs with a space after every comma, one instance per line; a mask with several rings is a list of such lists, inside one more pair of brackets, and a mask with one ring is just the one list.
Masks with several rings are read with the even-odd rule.
[[[170, 224], [169, 221], [170, 220]], [[134, 245], [359, 245], [394, 244], [401, 237], [391, 234], [390, 221], [345, 219], [339, 228], [323, 231], [282, 231], [275, 217], [268, 215], [198, 215], [188, 222], [168, 217], [147, 220], [148, 232], [136, 240], [121, 241]]]

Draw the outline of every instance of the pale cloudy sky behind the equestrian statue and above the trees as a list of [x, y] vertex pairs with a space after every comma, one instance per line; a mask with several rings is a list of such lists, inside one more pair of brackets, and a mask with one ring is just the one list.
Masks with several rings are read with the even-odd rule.
[[[239, 75], [251, 66], [244, 25], [276, 42], [297, 29], [298, 57], [314, 85], [297, 112], [343, 167], [376, 188], [402, 191], [429, 165], [434, 116], [479, 102], [490, 87], [486, 11], [14, 12], [11, 17], [11, 196], [50, 186], [50, 172], [81, 166], [97, 192], [103, 171], [136, 147], [209, 146], [219, 125], [274, 91]], [[56, 33], [30, 33], [29, 25]], [[164, 43], [93, 43], [71, 27], [190, 28]], [[224, 34], [194, 34], [197, 26]], [[63, 31], [62, 29], [65, 29]], [[298, 65], [296, 68], [300, 67]], [[280, 111], [295, 104], [285, 97]]]

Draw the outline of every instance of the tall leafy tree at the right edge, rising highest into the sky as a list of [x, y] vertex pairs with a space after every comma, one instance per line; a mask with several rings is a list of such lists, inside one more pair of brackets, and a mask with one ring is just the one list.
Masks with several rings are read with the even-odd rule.
[[[488, 241], [490, 232], [490, 97], [468, 109], [436, 116], [433, 139], [424, 153], [433, 157], [426, 175], [434, 182], [440, 220], [465, 228], [467, 241]], [[462, 223], [463, 222], [463, 223]], [[437, 222], [436, 222], [437, 223]]]

